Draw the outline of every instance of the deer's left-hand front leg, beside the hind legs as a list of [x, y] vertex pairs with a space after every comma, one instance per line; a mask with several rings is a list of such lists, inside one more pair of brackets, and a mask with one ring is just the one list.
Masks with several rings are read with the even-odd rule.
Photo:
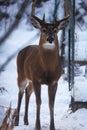
[[37, 81], [34, 81], [33, 86], [34, 86], [36, 105], [37, 105], [35, 130], [41, 130], [41, 125], [40, 125], [41, 85]]

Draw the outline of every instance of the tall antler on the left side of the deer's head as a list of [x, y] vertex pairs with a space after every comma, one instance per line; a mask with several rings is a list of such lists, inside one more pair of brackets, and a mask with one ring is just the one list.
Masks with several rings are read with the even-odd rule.
[[34, 18], [36, 21], [38, 21], [42, 25], [45, 22], [45, 14], [43, 15], [43, 20], [35, 16], [35, 5], [36, 5], [36, 0], [32, 4], [31, 17]]

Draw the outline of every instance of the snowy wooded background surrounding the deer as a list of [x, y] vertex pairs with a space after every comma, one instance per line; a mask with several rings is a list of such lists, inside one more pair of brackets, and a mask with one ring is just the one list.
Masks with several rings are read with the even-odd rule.
[[[30, 97], [28, 108], [29, 124], [24, 125], [25, 91], [20, 108], [19, 125], [15, 126], [19, 92], [17, 55], [27, 46], [39, 45], [40, 41], [40, 30], [34, 27], [33, 24], [36, 23], [33, 23], [31, 18], [33, 2], [34, 0], [0, 0], [0, 130], [35, 129], [34, 93]], [[72, 27], [73, 8], [74, 27]], [[72, 18], [61, 24], [63, 29], [57, 33], [62, 74], [58, 80], [54, 104], [55, 130], [87, 130], [87, 1], [36, 0], [35, 3], [35, 15], [44, 19], [45, 14], [47, 23], [63, 19], [69, 11]], [[69, 46], [69, 39], [72, 40], [69, 36], [70, 27], [74, 28], [73, 47]], [[69, 61], [71, 57], [74, 57], [73, 61]], [[50, 111], [46, 84], [41, 85], [41, 101], [41, 130], [49, 130]]]

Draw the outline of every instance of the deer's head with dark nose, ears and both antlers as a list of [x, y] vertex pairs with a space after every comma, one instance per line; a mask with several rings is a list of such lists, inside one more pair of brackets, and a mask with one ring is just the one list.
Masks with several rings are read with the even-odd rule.
[[70, 18], [70, 11], [69, 14], [67, 16], [65, 16], [63, 19], [58, 20], [54, 23], [47, 23], [45, 21], [45, 14], [43, 15], [43, 19], [41, 20], [40, 18], [38, 18], [37, 16], [35, 16], [35, 2], [33, 2], [32, 4], [32, 11], [31, 11], [31, 20], [32, 20], [32, 24], [35, 28], [38, 28], [41, 32], [41, 43], [43, 44], [43, 47], [48, 47], [45, 46], [45, 43], [47, 44], [51, 44], [51, 48], [54, 48], [55, 45], [53, 43], [55, 43], [55, 40], [58, 40], [57, 38], [57, 33], [59, 30], [63, 29], [64, 26], [62, 26], [62, 24], [64, 25], [64, 23], [67, 22], [67, 20]]

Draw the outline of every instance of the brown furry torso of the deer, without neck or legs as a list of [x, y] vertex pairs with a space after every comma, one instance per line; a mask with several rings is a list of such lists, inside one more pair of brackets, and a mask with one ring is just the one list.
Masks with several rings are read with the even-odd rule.
[[58, 81], [61, 74], [58, 50], [42, 50], [41, 53], [39, 48], [39, 46], [28, 46], [19, 53], [17, 58], [18, 81], [21, 78], [32, 81], [35, 79], [40, 81], [40, 84], [47, 85], [54, 80]]

